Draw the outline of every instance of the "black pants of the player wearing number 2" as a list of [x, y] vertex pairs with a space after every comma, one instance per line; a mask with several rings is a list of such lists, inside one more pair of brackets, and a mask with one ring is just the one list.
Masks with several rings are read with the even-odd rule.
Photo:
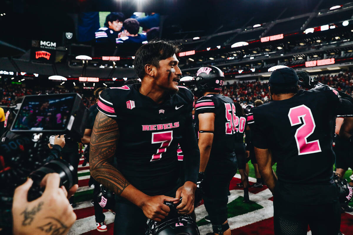
[[274, 197], [275, 235], [336, 235], [340, 231], [340, 203], [301, 205]]

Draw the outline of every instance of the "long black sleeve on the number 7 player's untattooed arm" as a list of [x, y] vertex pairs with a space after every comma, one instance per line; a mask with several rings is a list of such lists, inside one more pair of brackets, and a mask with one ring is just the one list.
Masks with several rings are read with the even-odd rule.
[[179, 144], [184, 154], [183, 163], [185, 182], [191, 181], [196, 184], [200, 167], [200, 150], [197, 144], [191, 113]]

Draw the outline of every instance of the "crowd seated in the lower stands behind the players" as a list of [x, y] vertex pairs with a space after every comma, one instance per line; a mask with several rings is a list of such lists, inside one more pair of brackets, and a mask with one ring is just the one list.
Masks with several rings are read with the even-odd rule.
[[[320, 80], [323, 84], [327, 84], [338, 89], [339, 91], [353, 95], [353, 72], [340, 72], [334, 75], [318, 75], [314, 76], [314, 78]], [[95, 103], [93, 90], [82, 88], [66, 89], [59, 87], [30, 89], [11, 84], [1, 87], [0, 105], [11, 105], [16, 98], [24, 95], [58, 94], [70, 92], [79, 93], [82, 96], [83, 103], [87, 107], [90, 107]], [[262, 100], [264, 103], [268, 103], [270, 101], [267, 81], [235, 81], [233, 84], [227, 83], [227, 85], [223, 87], [222, 94], [232, 98], [234, 101], [239, 102], [243, 107], [247, 104], [253, 104], [257, 99]]]

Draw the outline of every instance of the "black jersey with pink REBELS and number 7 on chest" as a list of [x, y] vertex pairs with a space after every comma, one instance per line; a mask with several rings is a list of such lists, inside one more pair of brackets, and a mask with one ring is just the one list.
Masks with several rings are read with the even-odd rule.
[[191, 114], [193, 94], [189, 88], [179, 86], [177, 94], [157, 104], [139, 92], [140, 86], [103, 90], [98, 110], [119, 124], [116, 168], [140, 191], [161, 195], [180, 186], [177, 148], [187, 138], [187, 123], [196, 144]]

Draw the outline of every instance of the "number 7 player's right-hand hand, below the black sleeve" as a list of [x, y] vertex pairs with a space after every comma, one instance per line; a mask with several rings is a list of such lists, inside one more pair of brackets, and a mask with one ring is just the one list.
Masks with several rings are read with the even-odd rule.
[[177, 206], [179, 214], [191, 214], [194, 210], [196, 184], [191, 181], [186, 181], [183, 186], [178, 188], [175, 194], [176, 198], [183, 198]]

